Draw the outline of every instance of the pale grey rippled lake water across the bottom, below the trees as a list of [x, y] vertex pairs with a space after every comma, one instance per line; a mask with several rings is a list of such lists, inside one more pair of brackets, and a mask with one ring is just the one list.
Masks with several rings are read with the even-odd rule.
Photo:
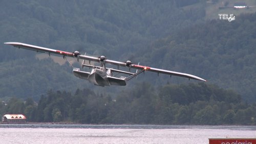
[[208, 143], [256, 138], [256, 126], [3, 125], [0, 143]]

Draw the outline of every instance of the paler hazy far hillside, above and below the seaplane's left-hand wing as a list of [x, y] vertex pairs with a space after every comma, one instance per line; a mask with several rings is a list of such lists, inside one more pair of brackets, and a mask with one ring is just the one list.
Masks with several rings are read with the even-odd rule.
[[144, 57], [141, 50], [149, 43], [202, 22], [204, 15], [203, 7], [183, 10], [176, 1], [1, 1], [0, 97], [38, 100], [49, 87], [74, 91], [89, 85], [95, 89], [73, 77], [71, 67], [38, 62], [35, 52], [17, 50], [4, 42], [136, 61], [136, 57]]

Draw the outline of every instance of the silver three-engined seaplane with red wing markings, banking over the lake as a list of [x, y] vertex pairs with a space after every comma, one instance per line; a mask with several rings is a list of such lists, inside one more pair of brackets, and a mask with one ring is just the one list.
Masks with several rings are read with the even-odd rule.
[[[84, 55], [80, 54], [78, 51], [75, 51], [73, 53], [65, 52], [65, 51], [49, 49], [46, 47], [41, 47], [41, 46], [36, 46], [36, 45], [31, 45], [31, 44], [26, 44], [21, 42], [5, 42], [5, 44], [13, 45], [18, 49], [22, 48], [22, 49], [32, 50], [35, 52], [46, 53], [46, 54], [49, 54], [49, 56], [51, 55], [62, 56], [63, 59], [66, 59], [66, 60], [67, 60], [66, 57], [76, 58], [77, 61], [82, 60], [82, 66], [81, 66], [82, 69], [85, 66], [85, 67], [89, 67], [90, 69], [92, 68], [92, 70], [83, 71], [80, 68], [73, 67], [73, 74], [75, 75], [75, 77], [88, 80], [89, 82], [97, 86], [111, 86], [111, 85], [125, 86], [127, 84], [127, 81], [137, 77], [141, 73], [145, 73], [145, 71], [151, 71], [151, 72], [157, 73], [158, 75], [166, 74], [166, 75], [169, 75], [170, 77], [178, 76], [178, 77], [188, 78], [189, 80], [195, 79], [199, 81], [206, 81], [200, 77], [190, 75], [190, 74], [179, 73], [176, 71], [170, 71], [165, 69], [159, 69], [159, 68], [153, 68], [149, 66], [134, 64], [130, 60], [127, 60], [126, 62], [110, 60], [103, 55], [100, 57], [93, 57], [93, 56], [88, 56], [86, 54]], [[85, 61], [88, 61], [89, 64], [85, 63]], [[94, 63], [96, 62], [96, 63], [99, 63], [100, 65], [96, 66], [91, 64], [91, 62], [94, 62]], [[106, 64], [116, 65], [118, 68], [117, 69], [108, 68], [106, 67]], [[129, 71], [119, 70], [120, 66], [129, 68]], [[130, 71], [131, 68], [136, 69], [136, 72], [132, 73]], [[126, 77], [124, 76], [115, 77], [114, 73], [125, 74]]]

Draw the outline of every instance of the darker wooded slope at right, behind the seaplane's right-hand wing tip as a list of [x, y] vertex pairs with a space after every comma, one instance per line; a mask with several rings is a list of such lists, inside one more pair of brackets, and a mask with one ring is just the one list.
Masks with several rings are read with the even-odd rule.
[[[154, 42], [147, 61], [200, 74], [210, 83], [256, 100], [256, 13], [235, 21], [210, 20]], [[159, 59], [161, 57], [161, 59]]]

